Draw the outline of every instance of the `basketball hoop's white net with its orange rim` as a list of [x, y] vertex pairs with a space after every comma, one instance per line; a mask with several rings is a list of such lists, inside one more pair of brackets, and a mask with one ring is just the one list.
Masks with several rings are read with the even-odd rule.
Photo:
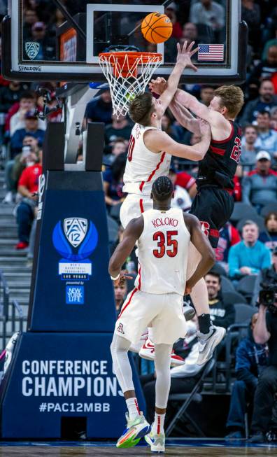
[[154, 52], [106, 52], [99, 55], [99, 65], [108, 80], [113, 114], [126, 115], [129, 103], [145, 91], [152, 74], [162, 63]]

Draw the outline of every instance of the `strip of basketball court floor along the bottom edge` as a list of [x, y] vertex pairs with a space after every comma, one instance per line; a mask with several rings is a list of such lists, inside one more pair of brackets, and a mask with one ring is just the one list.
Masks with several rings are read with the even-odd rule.
[[[242, 457], [276, 456], [277, 444], [241, 442], [226, 443], [224, 440], [168, 440], [164, 456], [190, 457]], [[89, 456], [151, 456], [144, 445], [130, 449], [116, 449], [106, 442], [2, 442], [0, 457], [89, 457]]]

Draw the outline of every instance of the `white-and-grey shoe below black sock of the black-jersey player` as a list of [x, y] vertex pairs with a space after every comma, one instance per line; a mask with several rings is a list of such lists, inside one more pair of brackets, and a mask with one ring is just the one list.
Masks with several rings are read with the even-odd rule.
[[226, 330], [223, 327], [215, 327], [211, 325], [208, 333], [197, 332], [199, 342], [199, 356], [197, 365], [204, 365], [213, 356], [215, 347], [220, 344], [225, 337]]

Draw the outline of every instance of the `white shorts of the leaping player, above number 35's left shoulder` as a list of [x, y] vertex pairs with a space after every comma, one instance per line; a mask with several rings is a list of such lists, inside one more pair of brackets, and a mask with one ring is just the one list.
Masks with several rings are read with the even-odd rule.
[[139, 218], [147, 209], [153, 209], [153, 200], [150, 196], [141, 197], [136, 194], [128, 194], [120, 208], [120, 222], [126, 228], [130, 220]]

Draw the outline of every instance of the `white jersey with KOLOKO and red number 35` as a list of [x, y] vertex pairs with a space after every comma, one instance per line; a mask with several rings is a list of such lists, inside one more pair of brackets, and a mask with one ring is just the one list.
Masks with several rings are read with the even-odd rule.
[[135, 286], [142, 292], [184, 295], [190, 232], [183, 211], [149, 209], [138, 240], [139, 274]]

